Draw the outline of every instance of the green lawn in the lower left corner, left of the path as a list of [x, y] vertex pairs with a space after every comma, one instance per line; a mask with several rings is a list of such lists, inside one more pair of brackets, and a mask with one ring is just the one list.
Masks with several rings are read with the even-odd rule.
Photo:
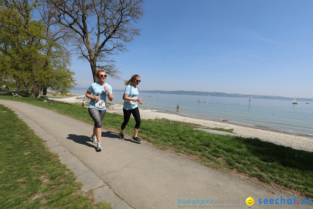
[[[13, 208], [110, 209], [80, 190], [76, 177], [60, 163], [11, 110], [0, 105], [0, 205]], [[14, 131], [12, 131], [14, 127]]]

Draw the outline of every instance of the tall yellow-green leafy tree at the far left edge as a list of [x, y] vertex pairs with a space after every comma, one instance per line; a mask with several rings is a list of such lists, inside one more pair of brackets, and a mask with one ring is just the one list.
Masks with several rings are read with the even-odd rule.
[[0, 0], [0, 3], [0, 28], [3, 32], [1, 50], [11, 61], [11, 68], [7, 70], [17, 81], [16, 91], [19, 91], [22, 77], [31, 82], [32, 96], [38, 95], [39, 81], [36, 73], [39, 70], [38, 60], [42, 58], [40, 49], [44, 37], [43, 25], [31, 20], [34, 5], [29, 5], [28, 1]]

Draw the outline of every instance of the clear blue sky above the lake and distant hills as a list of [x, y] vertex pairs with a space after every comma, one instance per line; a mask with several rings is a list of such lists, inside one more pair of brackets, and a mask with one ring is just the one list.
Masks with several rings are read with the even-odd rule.
[[[144, 9], [141, 36], [114, 57], [122, 79], [141, 76], [140, 90], [313, 98], [313, 1], [147, 0]], [[72, 61], [88, 87], [89, 63]]]

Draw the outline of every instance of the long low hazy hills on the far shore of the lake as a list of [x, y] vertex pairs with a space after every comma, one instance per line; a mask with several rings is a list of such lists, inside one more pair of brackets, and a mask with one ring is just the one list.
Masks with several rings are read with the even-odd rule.
[[[247, 95], [247, 94], [227, 94], [223, 92], [208, 92], [208, 91], [141, 91], [143, 93], [160, 93], [160, 94], [178, 94], [178, 95], [197, 95], [197, 96], [213, 96], [213, 97], [240, 97], [250, 99], [273, 99], [273, 100], [293, 100], [293, 97], [278, 97], [278, 96], [264, 96], [264, 95]], [[309, 98], [296, 98], [297, 101], [310, 101]]]

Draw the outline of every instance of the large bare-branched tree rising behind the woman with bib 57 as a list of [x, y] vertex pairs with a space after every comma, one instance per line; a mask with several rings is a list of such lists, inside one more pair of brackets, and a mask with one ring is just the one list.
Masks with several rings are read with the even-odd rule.
[[[53, 14], [55, 24], [66, 31], [67, 41], [80, 59], [90, 63], [94, 81], [101, 68], [112, 77], [121, 73], [112, 55], [127, 51], [140, 35], [135, 28], [143, 15], [144, 0], [40, 0]], [[49, 16], [51, 17], [51, 16]]]

